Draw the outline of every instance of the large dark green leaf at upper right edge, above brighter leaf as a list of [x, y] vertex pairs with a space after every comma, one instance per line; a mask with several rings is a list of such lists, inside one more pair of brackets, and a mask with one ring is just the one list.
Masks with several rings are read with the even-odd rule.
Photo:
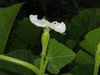
[[100, 8], [84, 9], [72, 19], [72, 25], [83, 34], [98, 27], [100, 23]]

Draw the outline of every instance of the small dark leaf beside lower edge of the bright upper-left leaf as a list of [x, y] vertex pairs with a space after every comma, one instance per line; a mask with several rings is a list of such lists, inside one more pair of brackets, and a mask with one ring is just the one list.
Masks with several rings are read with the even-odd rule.
[[18, 36], [10, 33], [5, 47], [5, 53], [9, 53], [18, 49], [27, 49], [27, 43]]

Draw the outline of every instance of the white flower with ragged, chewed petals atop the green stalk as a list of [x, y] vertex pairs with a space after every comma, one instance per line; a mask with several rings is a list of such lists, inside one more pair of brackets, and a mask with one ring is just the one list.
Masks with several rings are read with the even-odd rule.
[[63, 22], [61, 23], [57, 21], [49, 22], [45, 19], [38, 20], [37, 15], [30, 15], [29, 18], [30, 18], [30, 21], [36, 26], [50, 27], [51, 29], [54, 29], [56, 32], [59, 32], [59, 33], [64, 33], [66, 31], [66, 25]]

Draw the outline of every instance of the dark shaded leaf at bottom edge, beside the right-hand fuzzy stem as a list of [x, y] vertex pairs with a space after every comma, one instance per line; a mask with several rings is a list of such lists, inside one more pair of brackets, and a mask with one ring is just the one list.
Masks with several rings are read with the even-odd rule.
[[80, 64], [75, 66], [70, 73], [74, 75], [93, 75], [93, 64]]

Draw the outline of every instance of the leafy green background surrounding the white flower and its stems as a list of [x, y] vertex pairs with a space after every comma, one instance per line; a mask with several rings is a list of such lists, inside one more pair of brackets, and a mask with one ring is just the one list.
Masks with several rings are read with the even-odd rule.
[[[49, 21], [64, 21], [66, 24], [66, 35], [50, 31], [51, 39], [47, 52], [53, 50], [54, 44], [55, 53], [48, 53], [48, 59], [52, 60], [48, 63], [46, 73], [93, 74], [95, 51], [100, 41], [99, 0], [1, 0], [0, 7], [1, 54], [30, 62], [38, 67], [43, 29], [31, 24], [28, 17], [30, 14], [36, 14], [40, 19], [46, 16]], [[57, 51], [59, 47], [63, 50]], [[60, 58], [60, 54], [66, 58]], [[67, 57], [68, 55], [70, 57]], [[54, 59], [55, 56], [59, 58]], [[2, 60], [0, 64], [1, 75], [34, 74], [17, 64]], [[55, 67], [52, 64], [55, 64]]]

